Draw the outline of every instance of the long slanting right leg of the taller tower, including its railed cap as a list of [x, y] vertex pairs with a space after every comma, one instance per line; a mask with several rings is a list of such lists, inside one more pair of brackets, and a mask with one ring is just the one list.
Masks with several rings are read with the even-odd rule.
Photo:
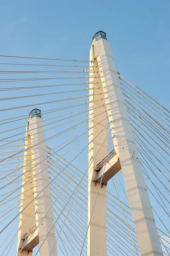
[[[99, 61], [99, 75], [102, 76], [104, 96], [108, 103], [109, 122], [113, 122], [114, 148], [120, 159], [141, 256], [163, 256], [118, 73], [104, 32], [93, 37], [91, 51], [95, 61]], [[95, 239], [93, 241], [95, 243]], [[97, 255], [95, 252], [90, 254]]]

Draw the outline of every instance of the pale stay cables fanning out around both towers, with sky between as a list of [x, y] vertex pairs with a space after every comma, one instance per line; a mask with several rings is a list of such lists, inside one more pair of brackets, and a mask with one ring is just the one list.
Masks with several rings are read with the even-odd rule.
[[[24, 167], [31, 165], [29, 156], [32, 154], [32, 148], [29, 148], [27, 158], [24, 158], [27, 145], [26, 123], [29, 112], [33, 108], [40, 108], [44, 120], [58, 255], [86, 256], [88, 169], [94, 160], [88, 160], [91, 133], [89, 122], [93, 119], [91, 112], [89, 113], [93, 110], [89, 107], [92, 102], [89, 96], [94, 93], [101, 95], [100, 87], [89, 89], [89, 81], [86, 80], [95, 77], [100, 81], [95, 61], [92, 64], [94, 71], [91, 71], [89, 61], [2, 55], [0, 58], [0, 101], [3, 101], [0, 110], [0, 255], [17, 255], [17, 236], [21, 228], [19, 216], [24, 204], [21, 189], [23, 186], [26, 189], [32, 183], [30, 190], [34, 191], [33, 177], [30, 175], [25, 178], [23, 173]], [[4, 62], [6, 58], [10, 62]], [[75, 62], [81, 62], [81, 65], [74, 65]], [[56, 77], [53, 77], [54, 73]], [[82, 75], [75, 76], [75, 73]], [[67, 80], [57, 83], [58, 79]], [[168, 256], [170, 111], [120, 73], [119, 79], [159, 239], [164, 255]], [[101, 85], [100, 82], [96, 84]], [[104, 93], [101, 97], [104, 99]], [[102, 99], [96, 101], [99, 103], [97, 115], [100, 116], [103, 113], [103, 102]], [[98, 124], [94, 124], [93, 128], [96, 125]], [[103, 138], [101, 144], [107, 140], [109, 154], [114, 149], [109, 121], [105, 128], [107, 137]], [[31, 167], [28, 172], [30, 170]], [[27, 192], [26, 189], [25, 193]], [[32, 214], [32, 210], [30, 209], [25, 221]], [[34, 225], [35, 221], [29, 228]], [[33, 234], [34, 232], [31, 236]], [[40, 246], [34, 248], [33, 255], [40, 255]], [[107, 185], [107, 255], [140, 256], [121, 171]]]

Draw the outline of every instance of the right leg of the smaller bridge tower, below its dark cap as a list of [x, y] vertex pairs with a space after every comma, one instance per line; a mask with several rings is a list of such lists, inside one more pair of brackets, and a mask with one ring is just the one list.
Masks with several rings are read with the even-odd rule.
[[[54, 227], [52, 228], [54, 219], [52, 212], [51, 192], [50, 186], [47, 186], [49, 184], [49, 173], [46, 157], [43, 119], [38, 116], [34, 116], [33, 118], [29, 119], [29, 135], [31, 137], [31, 145], [33, 146], [32, 158], [33, 175], [35, 176], [35, 197], [44, 189], [43, 192], [41, 192], [40, 195], [38, 195], [35, 199], [35, 216], [39, 236], [39, 246], [42, 245], [40, 248], [40, 255], [57, 256], [55, 229]], [[48, 237], [46, 238], [47, 234]], [[45, 238], [46, 241], [43, 243]]]

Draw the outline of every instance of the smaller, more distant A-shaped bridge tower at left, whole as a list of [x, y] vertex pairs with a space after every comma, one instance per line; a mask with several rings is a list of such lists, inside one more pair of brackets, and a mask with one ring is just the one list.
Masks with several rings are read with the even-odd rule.
[[32, 256], [37, 244], [41, 256], [57, 256], [43, 119], [36, 108], [26, 125], [23, 173], [17, 256]]

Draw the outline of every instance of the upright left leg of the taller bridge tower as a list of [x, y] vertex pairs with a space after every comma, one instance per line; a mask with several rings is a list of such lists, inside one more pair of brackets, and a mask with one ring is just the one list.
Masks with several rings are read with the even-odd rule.
[[[94, 59], [93, 55], [93, 49], [90, 50], [90, 60]], [[93, 66], [94, 64], [91, 64]], [[95, 64], [96, 65], [96, 64]], [[98, 70], [97, 68], [91, 67], [91, 70]], [[92, 73], [91, 73], [92, 74]], [[93, 74], [92, 74], [93, 76]], [[94, 76], [98, 76], [98, 74], [94, 73]], [[90, 78], [90, 82], [101, 82], [101, 79], [98, 78]], [[90, 90], [91, 94], [99, 94], [103, 93], [103, 88], [101, 83], [99, 84], [89, 84], [90, 88], [99, 88], [98, 90]], [[107, 115], [106, 115], [106, 105], [104, 100], [104, 94], [101, 95], [95, 95], [90, 96], [89, 100], [99, 100], [103, 99], [98, 102], [92, 102], [89, 103], [89, 107], [92, 108], [92, 110], [89, 110], [90, 119], [92, 121], [89, 122], [89, 128], [96, 125], [98, 122], [101, 122], [101, 120], [104, 119], [100, 124], [96, 125], [95, 128], [92, 128], [89, 130], [89, 142], [91, 142], [97, 134], [98, 137], [89, 144], [89, 163], [92, 162], [91, 166], [89, 167], [89, 184], [88, 184], [88, 223], [90, 220], [90, 217], [92, 215], [89, 230], [88, 230], [88, 256], [105, 256], [107, 253], [106, 248], [106, 188], [107, 184], [103, 185], [102, 188], [100, 188], [97, 201], [95, 204], [95, 198], [97, 196], [98, 192], [98, 186], [99, 184], [95, 184], [95, 182], [92, 182], [97, 177], [98, 172], [96, 171], [96, 166], [105, 156], [107, 156], [107, 140], [104, 142], [104, 139], [107, 137]], [[100, 107], [100, 108], [98, 108]], [[96, 108], [93, 110], [93, 108]], [[99, 113], [102, 113], [99, 116]], [[96, 116], [96, 117], [94, 117]], [[103, 130], [104, 129], [104, 130]], [[102, 131], [103, 130], [103, 131]], [[101, 132], [102, 131], [102, 132]], [[101, 147], [102, 143], [104, 142], [103, 146]], [[97, 154], [99, 148], [101, 147], [99, 153]], [[95, 155], [97, 156], [95, 157]], [[94, 158], [95, 157], [95, 158]], [[92, 210], [95, 204], [95, 208], [92, 214]]]

